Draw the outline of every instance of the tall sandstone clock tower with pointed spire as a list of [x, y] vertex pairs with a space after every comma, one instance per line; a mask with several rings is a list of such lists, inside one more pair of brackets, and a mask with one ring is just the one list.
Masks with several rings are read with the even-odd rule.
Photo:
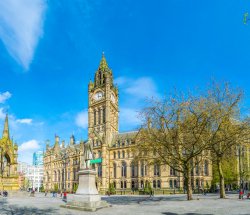
[[[108, 147], [118, 133], [118, 89], [113, 83], [113, 74], [104, 54], [95, 73], [94, 82], [88, 87], [88, 136], [93, 142], [95, 158], [102, 158], [98, 170], [101, 189], [108, 186]], [[98, 167], [99, 168], [99, 167]], [[100, 172], [99, 172], [100, 171]]]

